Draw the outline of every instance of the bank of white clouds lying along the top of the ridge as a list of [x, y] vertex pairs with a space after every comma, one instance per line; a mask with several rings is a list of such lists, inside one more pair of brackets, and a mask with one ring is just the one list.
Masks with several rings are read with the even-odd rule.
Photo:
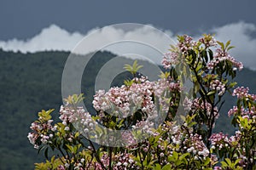
[[[231, 50], [231, 54], [236, 59], [243, 62], [246, 67], [256, 70], [256, 59], [254, 54], [256, 38], [252, 37], [253, 33], [255, 35], [255, 31], [255, 25], [240, 21], [225, 26], [215, 27], [212, 28], [212, 30], [205, 32], [215, 33], [215, 37], [222, 42], [231, 40], [231, 44], [236, 46], [236, 48]], [[172, 37], [172, 39], [175, 39], [172, 31], [165, 31], [165, 33]], [[85, 36], [86, 41], [83, 40], [81, 42]], [[140, 47], [140, 49], [137, 49], [137, 52], [140, 50], [144, 52], [147, 51], [148, 47], [145, 46], [134, 46], [134, 44], [132, 46], [132, 44], [129, 43], [121, 46], [117, 45], [118, 43], [113, 44], [113, 42], [118, 42], [120, 39], [145, 42], [154, 48], [159, 49], [162, 53], [166, 52], [170, 43], [172, 43], [170, 39], [166, 38], [166, 35], [150, 28], [150, 26], [143, 26], [130, 31], [125, 31], [116, 26], [108, 26], [101, 30], [92, 29], [88, 31], [87, 34], [83, 35], [79, 32], [70, 33], [61, 29], [59, 26], [52, 25], [44, 28], [38, 35], [27, 40], [12, 39], [6, 42], [0, 41], [0, 48], [3, 48], [3, 50], [20, 50], [20, 52], [26, 53], [44, 50], [70, 51], [76, 47], [76, 51], [89, 53], [108, 44], [108, 47], [105, 47], [104, 49], [111, 50], [113, 53], [117, 54], [128, 53], [129, 50], [126, 50], [127, 47], [129, 49]], [[76, 46], [79, 42], [80, 45]], [[83, 42], [86, 43], [83, 45]], [[148, 54], [144, 53], [144, 55], [152, 55], [152, 53], [148, 51]], [[159, 62], [160, 59], [157, 60]]]

